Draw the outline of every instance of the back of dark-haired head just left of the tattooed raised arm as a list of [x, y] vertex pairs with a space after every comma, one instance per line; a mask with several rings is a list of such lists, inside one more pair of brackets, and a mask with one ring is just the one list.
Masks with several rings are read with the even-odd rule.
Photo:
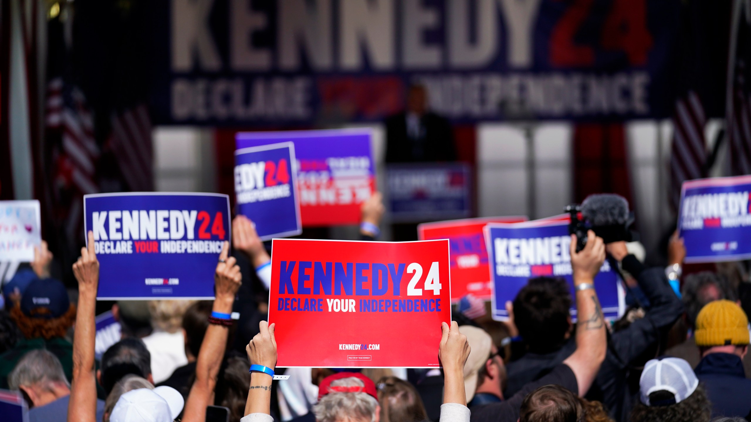
[[529, 279], [514, 298], [514, 322], [530, 352], [550, 353], [566, 342], [572, 330], [571, 303], [566, 280]]

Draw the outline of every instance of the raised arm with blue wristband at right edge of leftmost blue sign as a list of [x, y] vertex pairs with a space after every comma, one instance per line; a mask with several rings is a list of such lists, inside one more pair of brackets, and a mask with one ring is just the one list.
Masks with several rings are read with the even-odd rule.
[[[242, 276], [240, 267], [236, 265], [235, 258], [229, 257], [230, 245], [225, 242], [222, 246], [222, 254], [219, 255], [219, 264], [216, 265], [214, 283], [216, 299], [214, 299], [213, 312], [230, 314], [234, 303], [237, 289], [240, 288]], [[222, 359], [225, 357], [229, 327], [224, 325], [209, 324], [201, 342], [201, 351], [198, 352], [198, 361], [195, 367], [195, 381], [190, 390], [188, 401], [185, 402], [184, 422], [204, 422], [206, 420], [206, 406], [214, 402], [214, 387]]]

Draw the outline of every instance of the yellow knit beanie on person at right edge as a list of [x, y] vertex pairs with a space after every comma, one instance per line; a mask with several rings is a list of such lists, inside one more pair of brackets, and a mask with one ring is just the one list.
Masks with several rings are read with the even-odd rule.
[[749, 344], [749, 320], [730, 300], [715, 300], [701, 308], [694, 333], [698, 346]]

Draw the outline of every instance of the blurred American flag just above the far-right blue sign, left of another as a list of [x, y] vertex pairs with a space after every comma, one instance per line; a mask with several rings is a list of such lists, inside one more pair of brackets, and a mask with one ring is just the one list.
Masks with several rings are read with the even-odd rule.
[[678, 98], [673, 117], [673, 145], [670, 160], [671, 200], [675, 209], [680, 202], [683, 182], [707, 175], [707, 141], [704, 137], [704, 107], [696, 92], [690, 90]]

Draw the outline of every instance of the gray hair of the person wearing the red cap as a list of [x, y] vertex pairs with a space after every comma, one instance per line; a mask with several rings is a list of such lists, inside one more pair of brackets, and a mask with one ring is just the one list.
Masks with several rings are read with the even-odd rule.
[[[362, 380], [354, 377], [337, 379], [331, 387], [365, 387]], [[375, 420], [378, 400], [368, 393], [328, 393], [313, 405], [316, 422], [341, 420]]]

